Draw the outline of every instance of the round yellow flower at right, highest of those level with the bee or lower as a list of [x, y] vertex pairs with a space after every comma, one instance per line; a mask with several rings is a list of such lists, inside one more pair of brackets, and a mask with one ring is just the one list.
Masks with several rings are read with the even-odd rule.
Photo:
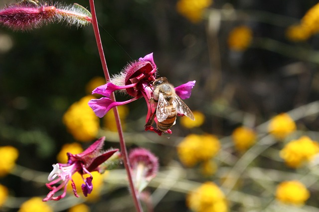
[[273, 117], [268, 125], [268, 132], [279, 140], [286, 138], [295, 131], [296, 123], [287, 113], [281, 113]]

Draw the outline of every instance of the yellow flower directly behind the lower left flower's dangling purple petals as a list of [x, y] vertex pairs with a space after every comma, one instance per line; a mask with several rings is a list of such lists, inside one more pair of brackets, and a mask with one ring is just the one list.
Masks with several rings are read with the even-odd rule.
[[[85, 200], [87, 201], [96, 201], [99, 199], [100, 197], [100, 193], [101, 193], [101, 190], [102, 190], [102, 187], [103, 187], [103, 178], [108, 174], [108, 172], [104, 172], [103, 174], [100, 174], [99, 172], [97, 171], [94, 171], [94, 172], [91, 172], [92, 176], [93, 176], [93, 180], [92, 180], [92, 183], [94, 185], [93, 187], [93, 190], [92, 190], [92, 193], [91, 194], [88, 194], [87, 197], [84, 197], [83, 193], [81, 192], [82, 189], [81, 189], [81, 185], [83, 184], [83, 179], [82, 179], [82, 176], [79, 174], [79, 173], [75, 173], [73, 176], [72, 176], [72, 179], [75, 183], [75, 186], [76, 186], [76, 190], [78, 191], [78, 195], [81, 197], [84, 197]], [[83, 175], [84, 179], [89, 177], [89, 174], [85, 174]], [[70, 192], [70, 193], [73, 193], [73, 188], [72, 188], [72, 185], [71, 183], [68, 184], [67, 186], [67, 190]]]

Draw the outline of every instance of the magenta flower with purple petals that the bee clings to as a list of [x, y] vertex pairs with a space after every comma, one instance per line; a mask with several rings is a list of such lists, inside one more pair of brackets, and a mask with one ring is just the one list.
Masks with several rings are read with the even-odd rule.
[[[110, 82], [95, 88], [92, 94], [101, 94], [105, 97], [90, 100], [89, 106], [98, 117], [102, 118], [113, 107], [125, 105], [144, 97], [148, 105], [146, 118], [146, 122], [148, 122], [156, 110], [156, 105], [150, 102], [153, 93], [151, 83], [156, 80], [156, 74], [157, 66], [154, 63], [153, 53], [151, 53], [144, 58], [140, 58], [139, 61], [129, 64], [122, 72], [113, 76]], [[180, 98], [185, 99], [190, 97], [191, 89], [194, 85], [195, 81], [189, 81], [174, 89]], [[111, 93], [114, 91], [128, 94], [133, 98], [123, 102], [113, 101], [111, 99]], [[178, 115], [182, 116], [182, 114]], [[156, 119], [155, 122], [157, 122]], [[145, 126], [145, 130], [154, 131], [159, 135], [162, 133], [152, 126]], [[165, 133], [171, 133], [171, 131], [167, 130]]]

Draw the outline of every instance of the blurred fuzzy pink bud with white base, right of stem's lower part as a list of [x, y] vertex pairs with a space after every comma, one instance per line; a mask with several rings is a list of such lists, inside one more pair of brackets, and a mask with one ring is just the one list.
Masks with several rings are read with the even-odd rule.
[[135, 148], [129, 154], [135, 187], [139, 192], [150, 183], [159, 170], [159, 159], [145, 148]]

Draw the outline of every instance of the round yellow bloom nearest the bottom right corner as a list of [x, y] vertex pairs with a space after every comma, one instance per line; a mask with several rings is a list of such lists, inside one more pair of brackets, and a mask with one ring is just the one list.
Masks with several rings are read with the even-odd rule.
[[276, 190], [276, 199], [285, 204], [304, 205], [309, 197], [307, 188], [297, 180], [284, 181]]

